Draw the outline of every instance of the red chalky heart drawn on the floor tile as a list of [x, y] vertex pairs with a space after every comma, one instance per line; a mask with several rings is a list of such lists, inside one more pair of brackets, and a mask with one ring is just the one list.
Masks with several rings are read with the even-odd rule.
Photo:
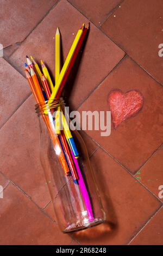
[[108, 103], [115, 129], [122, 121], [137, 114], [143, 107], [143, 102], [143, 96], [137, 90], [130, 90], [127, 93], [112, 90], [108, 96]]

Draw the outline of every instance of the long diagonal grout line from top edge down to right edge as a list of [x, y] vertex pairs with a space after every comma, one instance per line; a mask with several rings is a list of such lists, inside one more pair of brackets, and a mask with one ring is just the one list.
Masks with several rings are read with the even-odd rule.
[[[123, 0], [124, 2], [125, 0]], [[88, 17], [86, 17], [86, 15], [84, 13], [82, 13], [82, 11], [80, 11], [76, 6], [74, 6], [71, 2], [69, 2], [67, 0], [68, 3], [70, 3], [76, 10], [79, 11], [79, 13], [81, 13], [87, 20], [89, 20], [97, 29], [99, 29], [99, 31], [101, 31], [105, 36], [107, 36], [107, 38], [109, 38], [115, 45], [117, 45], [123, 52], [125, 52], [130, 58], [131, 60], [133, 60], [134, 63], [136, 63], [141, 69], [143, 69], [143, 71], [145, 71], [149, 76], [151, 76], [151, 78], [153, 78], [153, 80], [158, 83], [161, 87], [163, 87], [163, 84], [161, 82], [159, 82], [158, 80], [156, 80], [155, 77], [153, 77], [145, 68], [143, 68], [139, 63], [137, 63], [131, 56], [130, 54], [128, 54], [128, 52], [117, 42], [115, 42], [112, 38], [110, 38], [110, 36], [108, 34], [105, 33], [104, 29], [102, 28], [102, 26], [97, 26], [93, 21], [91, 21]], [[123, 3], [122, 2], [122, 3]], [[114, 13], [114, 11], [112, 12]], [[110, 16], [109, 16], [110, 17]], [[109, 19], [108, 17], [108, 19]]]

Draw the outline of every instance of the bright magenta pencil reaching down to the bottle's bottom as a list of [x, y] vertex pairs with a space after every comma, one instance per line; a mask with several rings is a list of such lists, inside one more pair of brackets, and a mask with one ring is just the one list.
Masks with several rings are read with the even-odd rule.
[[86, 186], [85, 186], [85, 183], [84, 183], [84, 180], [83, 180], [83, 176], [82, 176], [79, 164], [78, 164], [78, 160], [74, 157], [74, 155], [72, 153], [72, 150], [71, 150], [71, 155], [72, 155], [74, 164], [75, 164], [76, 169], [77, 169], [78, 183], [79, 183], [79, 186], [80, 186], [80, 190], [82, 192], [82, 196], [83, 196], [84, 203], [85, 203], [85, 206], [86, 206], [86, 210], [87, 210], [87, 214], [88, 214], [88, 217], [89, 217], [89, 221], [93, 221], [94, 217], [93, 217], [92, 206], [91, 206], [89, 194], [88, 194], [88, 192], [86, 190]]

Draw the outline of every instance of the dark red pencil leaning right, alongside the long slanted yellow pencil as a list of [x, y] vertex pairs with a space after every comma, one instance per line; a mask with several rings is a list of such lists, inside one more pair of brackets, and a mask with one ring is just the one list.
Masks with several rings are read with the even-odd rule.
[[80, 40], [79, 40], [79, 42], [78, 42], [77, 48], [76, 48], [76, 50], [75, 50], [75, 52], [74, 52], [74, 54], [73, 54], [72, 60], [71, 60], [71, 62], [70, 62], [70, 65], [68, 66], [68, 69], [67, 69], [67, 71], [66, 71], [66, 74], [65, 74], [65, 76], [64, 76], [64, 79], [62, 80], [61, 86], [60, 86], [60, 88], [59, 88], [59, 90], [58, 90], [58, 93], [57, 93], [57, 96], [56, 96], [57, 98], [60, 97], [60, 95], [61, 95], [61, 93], [62, 93], [62, 90], [64, 89], [64, 86], [65, 86], [65, 83], [66, 83], [66, 81], [67, 81], [67, 78], [68, 78], [68, 76], [70, 75], [71, 69], [72, 69], [72, 67], [73, 67], [73, 64], [74, 64], [74, 62], [75, 62], [77, 56], [78, 56], [78, 53], [79, 53], [79, 51], [80, 51], [80, 48], [82, 47], [84, 38], [85, 38], [86, 33], [87, 33], [88, 30], [89, 30], [89, 27], [88, 27], [88, 28], [84, 28], [83, 34], [82, 34], [82, 36], [81, 36], [81, 38], [80, 38]]

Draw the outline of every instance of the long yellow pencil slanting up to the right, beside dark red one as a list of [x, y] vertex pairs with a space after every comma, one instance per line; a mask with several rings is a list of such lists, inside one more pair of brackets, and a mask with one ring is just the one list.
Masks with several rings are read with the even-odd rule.
[[70, 62], [71, 62], [71, 59], [72, 59], [73, 54], [74, 54], [74, 51], [76, 50], [76, 47], [77, 47], [78, 42], [79, 42], [79, 39], [80, 39], [80, 37], [81, 37], [81, 35], [82, 35], [82, 33], [83, 33], [83, 29], [84, 29], [84, 26], [82, 26], [82, 28], [80, 28], [80, 29], [78, 30], [78, 33], [77, 33], [77, 35], [76, 35], [76, 38], [75, 38], [74, 41], [73, 41], [73, 44], [72, 44], [72, 46], [71, 46], [71, 48], [70, 48], [70, 52], [68, 52], [68, 55], [67, 55], [67, 58], [66, 58], [66, 60], [65, 60], [64, 66], [63, 66], [62, 69], [61, 69], [61, 72], [60, 72], [58, 81], [55, 83], [55, 87], [54, 87], [54, 89], [53, 89], [53, 91], [52, 91], [52, 94], [51, 94], [50, 99], [48, 100], [48, 103], [53, 102], [53, 100], [55, 99], [55, 97], [56, 97], [56, 95], [57, 95], [57, 92], [58, 92], [58, 90], [59, 90], [59, 87], [60, 87], [60, 85], [61, 85], [61, 82], [62, 82], [62, 80], [63, 80], [63, 78], [64, 78], [64, 75], [65, 75], [65, 73], [66, 73], [66, 71], [67, 71], [68, 65], [69, 65]]

